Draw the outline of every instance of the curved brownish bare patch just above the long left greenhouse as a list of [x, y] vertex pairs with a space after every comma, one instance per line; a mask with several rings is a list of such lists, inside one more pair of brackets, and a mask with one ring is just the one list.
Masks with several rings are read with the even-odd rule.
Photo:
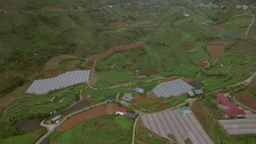
[[45, 63], [45, 68], [44, 69], [48, 70], [48, 69], [61, 68], [59, 63], [63, 59], [71, 59], [71, 58], [77, 58], [77, 57], [72, 56], [72, 55], [60, 55], [60, 56], [54, 57], [54, 58], [50, 59], [48, 62]]

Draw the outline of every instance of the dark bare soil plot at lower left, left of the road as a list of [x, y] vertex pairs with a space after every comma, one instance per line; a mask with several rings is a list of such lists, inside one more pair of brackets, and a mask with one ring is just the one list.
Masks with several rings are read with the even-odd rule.
[[43, 120], [43, 118], [37, 118], [37, 119], [30, 119], [25, 121], [18, 121], [14, 123], [15, 127], [18, 128], [20, 131], [30, 131], [32, 129], [36, 129], [41, 127], [40, 122]]

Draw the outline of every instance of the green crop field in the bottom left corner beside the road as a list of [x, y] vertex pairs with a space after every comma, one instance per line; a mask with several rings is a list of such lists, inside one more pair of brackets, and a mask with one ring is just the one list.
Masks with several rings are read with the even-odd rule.
[[11, 136], [5, 139], [4, 141], [0, 141], [1, 144], [24, 144], [24, 143], [34, 143], [40, 136], [45, 134], [47, 131], [45, 128], [41, 127], [32, 131], [29, 131], [25, 134], [18, 136]]

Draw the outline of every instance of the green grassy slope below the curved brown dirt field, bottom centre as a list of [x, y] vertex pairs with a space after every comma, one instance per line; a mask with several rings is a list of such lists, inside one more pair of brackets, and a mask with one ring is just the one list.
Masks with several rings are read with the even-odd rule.
[[50, 143], [131, 143], [133, 122], [123, 116], [104, 115], [50, 135]]

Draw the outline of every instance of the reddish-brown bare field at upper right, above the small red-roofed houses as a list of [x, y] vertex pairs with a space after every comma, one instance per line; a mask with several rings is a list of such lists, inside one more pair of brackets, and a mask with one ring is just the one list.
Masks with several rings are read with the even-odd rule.
[[225, 44], [232, 43], [230, 41], [214, 41], [212, 43], [208, 43], [207, 51], [211, 53], [212, 58], [218, 58], [222, 55]]

